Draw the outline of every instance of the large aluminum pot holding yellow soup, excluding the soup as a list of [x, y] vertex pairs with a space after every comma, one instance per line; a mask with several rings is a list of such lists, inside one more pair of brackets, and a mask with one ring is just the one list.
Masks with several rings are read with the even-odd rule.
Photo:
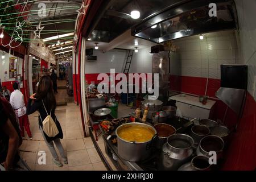
[[[145, 127], [154, 134], [154, 137], [146, 142], [129, 142], [119, 137], [118, 133], [120, 130], [134, 126]], [[129, 160], [130, 162], [139, 162], [150, 157], [152, 142], [156, 137], [156, 130], [154, 127], [144, 123], [126, 123], [117, 127], [115, 130], [115, 135], [117, 135], [117, 150], [121, 158]]]

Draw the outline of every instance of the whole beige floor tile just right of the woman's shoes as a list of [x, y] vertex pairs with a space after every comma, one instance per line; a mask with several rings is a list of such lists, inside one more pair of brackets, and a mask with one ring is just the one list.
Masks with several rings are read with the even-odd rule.
[[90, 164], [89, 155], [86, 150], [68, 151], [68, 166], [81, 166]]

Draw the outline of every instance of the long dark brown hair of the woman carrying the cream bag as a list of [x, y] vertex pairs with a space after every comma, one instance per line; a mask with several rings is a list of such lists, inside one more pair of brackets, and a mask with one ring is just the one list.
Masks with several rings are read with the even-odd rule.
[[47, 109], [56, 109], [56, 99], [52, 89], [52, 80], [49, 76], [42, 76], [39, 81], [35, 98], [37, 101], [43, 100]]

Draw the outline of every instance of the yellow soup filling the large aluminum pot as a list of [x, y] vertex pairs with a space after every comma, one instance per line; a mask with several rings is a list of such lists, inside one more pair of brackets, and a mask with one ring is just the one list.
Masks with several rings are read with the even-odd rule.
[[146, 142], [154, 137], [154, 131], [146, 127], [132, 126], [119, 130], [118, 135], [129, 142]]

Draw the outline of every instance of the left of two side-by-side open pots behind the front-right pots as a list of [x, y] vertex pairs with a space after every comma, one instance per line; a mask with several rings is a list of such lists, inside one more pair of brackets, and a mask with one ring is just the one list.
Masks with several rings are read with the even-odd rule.
[[210, 134], [210, 129], [204, 125], [195, 125], [191, 128], [191, 137], [195, 145], [199, 144], [200, 140]]

